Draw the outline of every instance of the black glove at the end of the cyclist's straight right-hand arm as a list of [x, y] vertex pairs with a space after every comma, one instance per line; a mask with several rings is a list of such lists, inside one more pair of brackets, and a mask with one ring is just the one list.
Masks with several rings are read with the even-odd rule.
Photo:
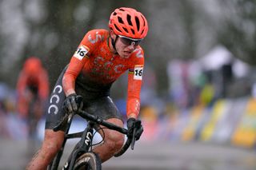
[[143, 132], [142, 121], [136, 120], [134, 117], [130, 117], [127, 120], [128, 137], [132, 137], [135, 129], [135, 139], [139, 140]]

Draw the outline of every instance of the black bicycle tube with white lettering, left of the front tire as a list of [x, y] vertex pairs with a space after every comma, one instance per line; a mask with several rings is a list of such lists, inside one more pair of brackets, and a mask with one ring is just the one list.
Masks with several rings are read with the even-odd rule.
[[66, 164], [64, 165], [62, 170], [71, 170], [74, 167], [75, 160], [83, 153], [89, 151], [94, 136], [93, 127], [94, 123], [89, 121], [86, 129], [82, 133], [81, 140], [78, 142], [78, 144], [75, 145], [73, 151], [70, 154], [69, 159], [66, 161]]

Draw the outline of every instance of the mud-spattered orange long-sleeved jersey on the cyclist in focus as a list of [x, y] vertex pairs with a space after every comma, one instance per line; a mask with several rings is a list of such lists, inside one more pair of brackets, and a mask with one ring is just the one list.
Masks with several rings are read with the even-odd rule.
[[[129, 57], [120, 57], [111, 52], [110, 34], [107, 30], [91, 30], [71, 57], [62, 85], [66, 95], [74, 93], [76, 81], [90, 81], [99, 85], [110, 85], [129, 70], [127, 115], [138, 116], [140, 90], [144, 66], [144, 52], [138, 45]], [[79, 76], [78, 75], [82, 76]], [[82, 78], [81, 78], [82, 77]], [[82, 80], [78, 80], [82, 79]]]

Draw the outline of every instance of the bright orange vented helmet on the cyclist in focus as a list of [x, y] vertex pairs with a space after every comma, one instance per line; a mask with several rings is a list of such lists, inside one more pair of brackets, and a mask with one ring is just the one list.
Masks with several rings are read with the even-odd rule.
[[132, 8], [118, 8], [110, 15], [110, 29], [114, 34], [127, 38], [142, 39], [146, 37], [148, 25], [146, 18]]

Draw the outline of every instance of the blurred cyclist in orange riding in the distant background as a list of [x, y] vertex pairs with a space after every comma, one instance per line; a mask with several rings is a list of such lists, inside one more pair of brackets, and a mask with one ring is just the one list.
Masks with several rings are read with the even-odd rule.
[[[38, 57], [26, 59], [19, 73], [17, 93], [19, 116], [27, 121], [29, 125], [30, 121], [34, 121], [34, 125], [37, 125], [37, 121], [42, 117], [43, 108], [49, 95], [48, 74]], [[32, 103], [33, 105], [31, 105]], [[33, 115], [30, 115], [30, 112]]]

